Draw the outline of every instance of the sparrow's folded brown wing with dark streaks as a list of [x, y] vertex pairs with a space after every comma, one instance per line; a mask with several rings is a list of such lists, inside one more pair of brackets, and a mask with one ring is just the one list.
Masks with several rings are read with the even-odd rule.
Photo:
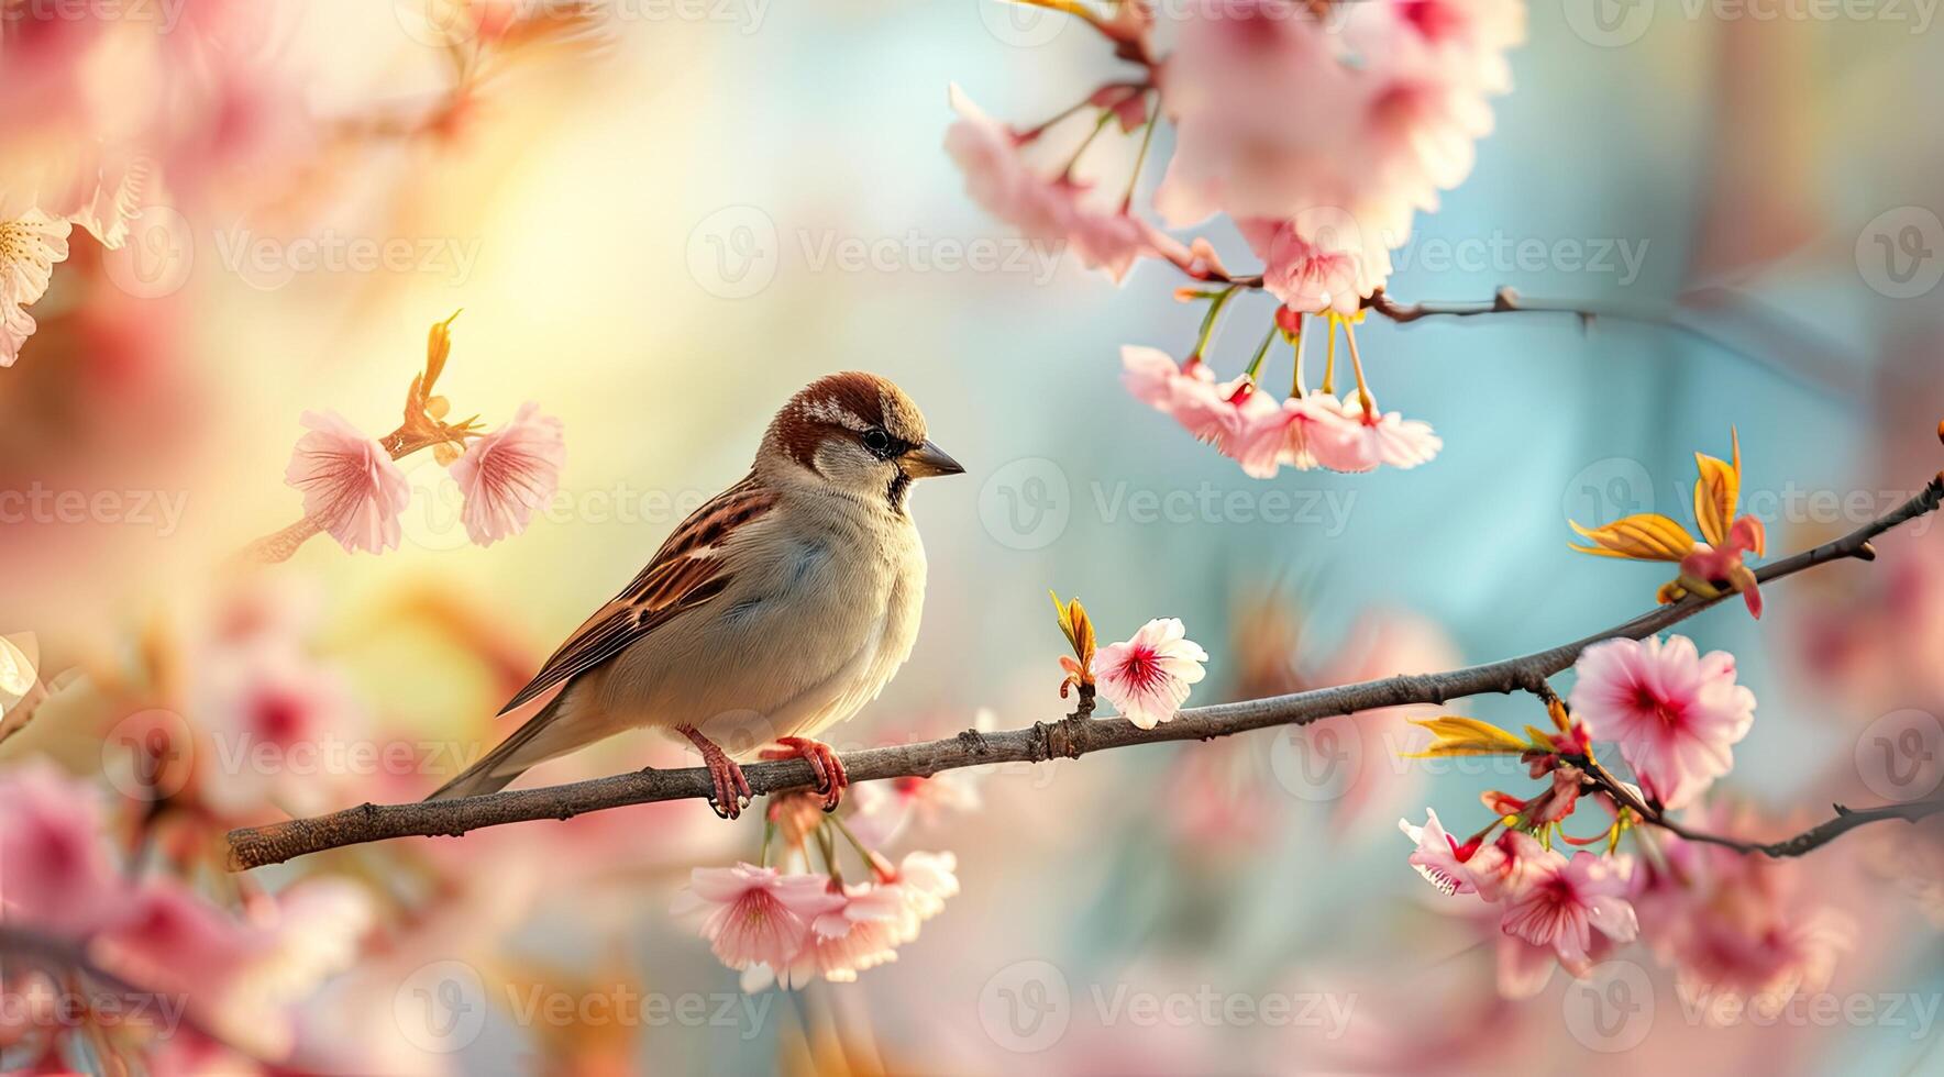
[[776, 494], [754, 476], [723, 490], [690, 513], [669, 540], [655, 550], [647, 568], [608, 605], [589, 616], [568, 642], [546, 659], [540, 673], [521, 688], [500, 713], [517, 710], [540, 692], [587, 673], [645, 640], [677, 614], [688, 612], [729, 587], [721, 558], [723, 538], [739, 525], [776, 507]]

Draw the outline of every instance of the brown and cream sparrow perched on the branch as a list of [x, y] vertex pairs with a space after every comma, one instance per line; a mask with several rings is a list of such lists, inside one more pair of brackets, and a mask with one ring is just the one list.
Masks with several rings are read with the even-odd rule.
[[803, 387], [748, 474], [690, 513], [500, 717], [558, 692], [428, 799], [494, 793], [538, 762], [653, 727], [702, 752], [723, 818], [750, 799], [733, 758], [750, 750], [809, 760], [834, 811], [850, 780], [816, 735], [912, 655], [925, 595], [912, 484], [960, 472], [892, 381], [844, 371]]

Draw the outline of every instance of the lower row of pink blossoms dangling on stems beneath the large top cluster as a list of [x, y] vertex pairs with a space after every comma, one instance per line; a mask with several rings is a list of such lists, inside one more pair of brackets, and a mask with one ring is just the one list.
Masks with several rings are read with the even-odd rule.
[[1419, 420], [1382, 412], [1357, 395], [1301, 393], [1275, 400], [1252, 377], [1215, 381], [1198, 356], [1176, 364], [1157, 348], [1124, 346], [1122, 383], [1141, 402], [1172, 416], [1198, 439], [1242, 465], [1256, 478], [1281, 467], [1299, 470], [1411, 469], [1433, 459], [1444, 441]]

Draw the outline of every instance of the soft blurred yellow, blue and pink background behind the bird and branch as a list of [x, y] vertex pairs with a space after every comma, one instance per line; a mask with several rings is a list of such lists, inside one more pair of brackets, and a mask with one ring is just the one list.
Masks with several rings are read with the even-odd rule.
[[[1442, 455], [1267, 482], [1118, 385], [1120, 344], [1186, 352], [1199, 309], [1172, 299], [1180, 276], [1149, 262], [1116, 288], [1015, 237], [941, 150], [953, 82], [1030, 122], [1112, 76], [1087, 27], [995, 0], [616, 0], [523, 41], [476, 8], [455, 23], [426, 0], [264, 0], [239, 31], [247, 91], [173, 105], [222, 109], [191, 154], [212, 175], [148, 206], [119, 251], [76, 231], [39, 332], [0, 371], [0, 490], [47, 492], [0, 527], [0, 634], [41, 680], [16, 692], [37, 710], [0, 766], [45, 756], [126, 793], [130, 737], [214, 721], [185, 671], [253, 618], [292, 626], [329, 671], [330, 694], [307, 696], [330, 700], [321, 737], [406, 745], [408, 766], [231, 768], [247, 791], [198, 809], [183, 863], [218, 822], [430, 791], [743, 474], [774, 410], [836, 369], [900, 383], [968, 469], [914, 498], [923, 632], [830, 731], [840, 748], [951, 735], [980, 710], [1001, 729], [1063, 713], [1048, 587], [1083, 597], [1102, 640], [1184, 618], [1213, 655], [1194, 700], [1246, 698], [1491, 661], [1641, 612], [1662, 575], [1569, 552], [1567, 521], [1687, 519], [1691, 453], [1726, 455], [1730, 426], [1771, 556], [1866, 523], [1944, 461], [1934, 4], [1534, 4], [1516, 89], [1390, 292], [1510, 286], [1608, 317], [1372, 319], [1382, 402], [1433, 422]], [[480, 43], [494, 62], [455, 80], [455, 49]], [[1232, 233], [1217, 243], [1254, 264]], [[399, 550], [319, 538], [239, 579], [227, 558], [301, 515], [284, 484], [297, 416], [391, 430], [426, 327], [457, 309], [439, 383], [455, 414], [498, 424], [538, 400], [566, 424], [548, 511], [474, 546], [451, 478], [414, 457]], [[1240, 369], [1254, 332], [1221, 338], [1217, 367]], [[58, 509], [70, 490], [89, 507]], [[1775, 585], [1759, 624], [1730, 603], [1684, 626], [1734, 651], [1759, 698], [1713, 797], [1724, 828], [1781, 836], [1831, 801], [1944, 780], [1930, 527], [1882, 538], [1874, 566]], [[1456, 710], [1536, 719], [1528, 700]], [[900, 838], [955, 851], [962, 896], [896, 964], [795, 993], [743, 995], [667, 914], [692, 867], [760, 842], [754, 816], [698, 803], [264, 869], [270, 892], [334, 875], [371, 902], [356, 960], [294, 1007], [292, 1065], [1944, 1073], [1934, 822], [1775, 869], [1853, 925], [1812, 1007], [1709, 1017], [1645, 945], [1602, 995], [1559, 974], [1509, 1001], [1493, 925], [1435, 904], [1396, 818], [1483, 818], [1477, 793], [1524, 770], [1404, 762], [1404, 717], [982, 774], [980, 807]], [[682, 756], [622, 737], [525, 783]]]

